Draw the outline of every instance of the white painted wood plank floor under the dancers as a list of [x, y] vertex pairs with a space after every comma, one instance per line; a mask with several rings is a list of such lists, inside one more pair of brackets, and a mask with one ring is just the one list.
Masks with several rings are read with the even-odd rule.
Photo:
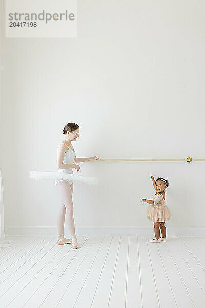
[[205, 238], [7, 237], [1, 308], [204, 308]]

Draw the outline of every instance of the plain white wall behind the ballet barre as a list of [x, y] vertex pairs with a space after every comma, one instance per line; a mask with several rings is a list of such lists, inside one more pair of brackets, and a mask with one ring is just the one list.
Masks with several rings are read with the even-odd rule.
[[[204, 157], [204, 8], [190, 0], [78, 0], [78, 38], [4, 39], [8, 232], [9, 227], [56, 228], [54, 183], [30, 180], [28, 173], [56, 170], [68, 122], [80, 125], [73, 144], [78, 157]], [[74, 184], [76, 226], [151, 227], [140, 200], [153, 197], [153, 174], [170, 181], [168, 228], [203, 227], [204, 167], [202, 162], [81, 163], [81, 174], [99, 182]]]

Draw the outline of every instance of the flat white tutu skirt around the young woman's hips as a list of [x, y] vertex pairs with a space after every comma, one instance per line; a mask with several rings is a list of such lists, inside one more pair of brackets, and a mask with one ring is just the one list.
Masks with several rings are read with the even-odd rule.
[[89, 185], [97, 185], [97, 178], [78, 176], [65, 172], [29, 171], [29, 177], [34, 180], [72, 180]]

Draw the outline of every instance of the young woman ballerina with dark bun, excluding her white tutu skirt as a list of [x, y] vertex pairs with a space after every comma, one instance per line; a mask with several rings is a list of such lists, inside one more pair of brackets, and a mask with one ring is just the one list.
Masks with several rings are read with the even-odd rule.
[[[79, 126], [75, 123], [68, 123], [63, 129], [65, 139], [59, 144], [57, 151], [57, 168], [58, 172], [73, 173], [75, 168], [80, 170], [80, 166], [75, 163], [86, 162], [89, 160], [99, 159], [97, 156], [77, 158], [75, 156], [75, 150], [72, 146], [72, 141], [76, 141], [79, 137]], [[61, 204], [57, 217], [57, 229], [58, 229], [58, 245], [72, 244], [73, 249], [78, 248], [77, 238], [75, 235], [75, 224], [73, 219], [73, 181], [72, 180], [55, 180], [55, 185], [59, 191]], [[64, 222], [66, 221], [71, 235], [71, 239], [64, 237]]]

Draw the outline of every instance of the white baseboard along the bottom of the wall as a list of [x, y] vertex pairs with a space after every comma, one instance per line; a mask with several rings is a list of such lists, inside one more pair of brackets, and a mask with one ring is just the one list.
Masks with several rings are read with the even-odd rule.
[[[57, 236], [57, 227], [6, 227], [6, 236]], [[65, 227], [65, 235], [69, 235]], [[80, 236], [153, 236], [153, 227], [76, 227]], [[205, 227], [167, 227], [167, 236], [205, 236]]]

